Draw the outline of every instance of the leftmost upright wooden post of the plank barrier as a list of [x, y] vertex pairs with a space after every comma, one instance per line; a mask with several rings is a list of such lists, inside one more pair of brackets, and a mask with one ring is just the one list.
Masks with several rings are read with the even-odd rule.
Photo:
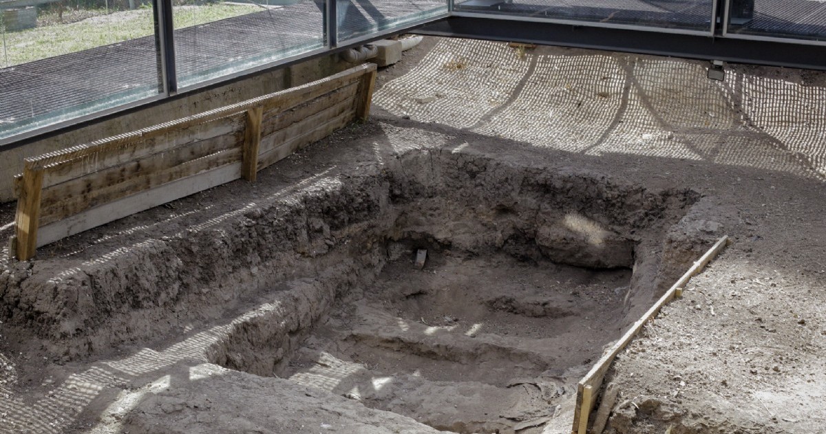
[[26, 161], [17, 199], [17, 259], [28, 261], [35, 256], [37, 227], [40, 225], [40, 191], [43, 190], [43, 167]]

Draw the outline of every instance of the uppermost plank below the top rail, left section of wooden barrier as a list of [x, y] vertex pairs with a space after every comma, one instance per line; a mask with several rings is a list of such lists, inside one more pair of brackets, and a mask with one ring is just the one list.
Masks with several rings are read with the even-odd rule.
[[44, 188], [55, 186], [69, 180], [86, 176], [94, 172], [106, 171], [131, 163], [137, 159], [158, 153], [227, 135], [239, 135], [244, 130], [243, 116], [212, 120], [199, 125], [190, 125], [180, 130], [168, 130], [164, 134], [144, 137], [133, 143], [121, 143], [119, 146], [100, 147], [97, 153], [86, 153], [77, 158], [67, 158], [64, 162], [48, 167], [44, 179]]

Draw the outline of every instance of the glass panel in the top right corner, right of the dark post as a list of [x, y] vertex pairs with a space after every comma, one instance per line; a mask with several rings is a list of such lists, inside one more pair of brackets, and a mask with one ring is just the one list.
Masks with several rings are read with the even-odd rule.
[[826, 40], [826, 2], [731, 0], [729, 33]]

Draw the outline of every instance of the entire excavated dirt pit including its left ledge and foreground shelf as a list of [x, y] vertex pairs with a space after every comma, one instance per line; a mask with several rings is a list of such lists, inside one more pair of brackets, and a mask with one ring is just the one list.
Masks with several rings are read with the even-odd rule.
[[59, 410], [80, 431], [566, 432], [577, 381], [719, 236], [713, 205], [466, 148], [244, 186], [107, 261], [15, 264], [3, 320], [37, 331], [20, 342], [42, 366], [13, 361], [7, 383], [44, 398], [14, 405], [64, 408], [82, 380], [123, 397]]

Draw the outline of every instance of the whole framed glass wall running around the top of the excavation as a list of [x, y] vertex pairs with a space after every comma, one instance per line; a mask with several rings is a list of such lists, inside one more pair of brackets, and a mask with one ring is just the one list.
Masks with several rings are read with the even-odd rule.
[[[719, 15], [724, 36], [826, 43], [826, 0], [454, 1], [456, 12], [663, 33], [710, 35]], [[172, 11], [168, 83], [184, 91], [323, 50], [333, 24], [348, 45], [448, 12], [447, 0], [0, 0], [0, 143], [164, 95], [153, 4]]]

